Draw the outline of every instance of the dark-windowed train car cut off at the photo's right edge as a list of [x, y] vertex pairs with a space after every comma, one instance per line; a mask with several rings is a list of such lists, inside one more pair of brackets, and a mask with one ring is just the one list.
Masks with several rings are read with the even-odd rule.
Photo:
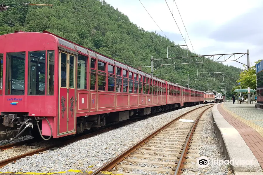
[[263, 108], [263, 60], [256, 65], [257, 76], [257, 104], [256, 108]]

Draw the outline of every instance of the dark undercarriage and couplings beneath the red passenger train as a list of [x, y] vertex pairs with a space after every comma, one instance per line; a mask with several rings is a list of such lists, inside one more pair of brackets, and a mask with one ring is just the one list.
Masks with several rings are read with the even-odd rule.
[[[188, 102], [184, 103], [184, 107], [202, 103], [203, 102]], [[106, 124], [112, 122], [120, 122], [136, 116], [156, 114], [164, 111], [169, 111], [177, 107], [180, 107], [179, 103], [154, 106], [149, 108], [140, 108], [129, 111], [104, 113], [100, 115], [77, 117], [76, 134], [83, 133], [85, 130], [96, 131], [101, 127], [105, 127]], [[42, 136], [41, 134], [42, 120], [47, 119], [45, 117], [28, 116], [28, 113], [1, 113], [0, 140], [17, 139], [18, 137], [24, 135], [31, 135], [34, 138], [49, 140], [52, 136]], [[74, 135], [70, 136], [72, 137]]]

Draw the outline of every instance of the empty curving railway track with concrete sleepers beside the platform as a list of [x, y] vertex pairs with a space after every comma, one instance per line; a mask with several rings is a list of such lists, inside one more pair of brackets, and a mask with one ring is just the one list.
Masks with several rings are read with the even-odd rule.
[[91, 175], [109, 174], [105, 171], [124, 175], [140, 174], [139, 171], [147, 174], [155, 171], [179, 175], [188, 167], [198, 167], [204, 125], [202, 116], [212, 106], [195, 108], [179, 116], [96, 169]]

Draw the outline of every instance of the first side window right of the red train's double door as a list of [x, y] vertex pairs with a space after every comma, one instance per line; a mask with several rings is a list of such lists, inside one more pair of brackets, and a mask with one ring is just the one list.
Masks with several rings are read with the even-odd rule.
[[78, 55], [77, 88], [87, 89], [87, 65], [88, 57]]

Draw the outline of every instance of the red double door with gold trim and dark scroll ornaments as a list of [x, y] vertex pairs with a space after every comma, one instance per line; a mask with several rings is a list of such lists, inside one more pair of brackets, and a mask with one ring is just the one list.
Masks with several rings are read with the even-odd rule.
[[58, 134], [75, 132], [75, 60], [76, 56], [60, 51], [59, 57], [60, 90], [59, 90], [59, 122]]

